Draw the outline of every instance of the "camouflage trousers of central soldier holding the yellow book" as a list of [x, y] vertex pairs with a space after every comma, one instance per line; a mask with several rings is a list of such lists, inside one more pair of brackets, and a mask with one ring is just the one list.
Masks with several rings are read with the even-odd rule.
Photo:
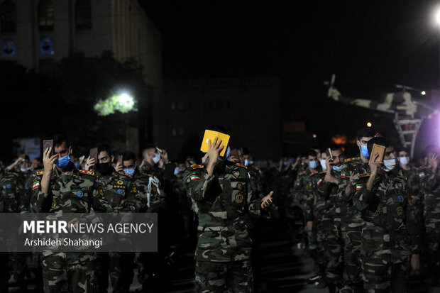
[[[250, 260], [238, 262], [196, 262], [196, 289], [200, 293], [253, 292]], [[229, 290], [228, 288], [233, 288]]]

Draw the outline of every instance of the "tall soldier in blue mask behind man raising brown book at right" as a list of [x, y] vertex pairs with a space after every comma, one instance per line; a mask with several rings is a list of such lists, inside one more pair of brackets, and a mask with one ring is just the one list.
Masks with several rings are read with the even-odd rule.
[[342, 165], [339, 177], [338, 196], [341, 201], [341, 234], [343, 239], [343, 284], [341, 293], [362, 292], [361, 276], [361, 213], [353, 206], [353, 194], [356, 192], [351, 186], [355, 175], [365, 173], [368, 168], [368, 140], [373, 138], [376, 131], [373, 128], [361, 128], [358, 131], [359, 157], [351, 157], [345, 160]]

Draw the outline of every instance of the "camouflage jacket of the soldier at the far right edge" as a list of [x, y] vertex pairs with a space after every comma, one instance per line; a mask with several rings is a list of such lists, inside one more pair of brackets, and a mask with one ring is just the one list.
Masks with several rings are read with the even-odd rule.
[[423, 189], [423, 216], [425, 227], [428, 229], [440, 228], [440, 167], [432, 172], [432, 167], [422, 167], [418, 170], [420, 185]]

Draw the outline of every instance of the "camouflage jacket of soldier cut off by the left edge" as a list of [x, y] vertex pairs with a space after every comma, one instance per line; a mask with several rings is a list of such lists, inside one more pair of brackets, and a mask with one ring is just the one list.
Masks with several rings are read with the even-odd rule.
[[23, 178], [17, 172], [6, 171], [0, 179], [0, 211], [19, 213], [25, 209]]

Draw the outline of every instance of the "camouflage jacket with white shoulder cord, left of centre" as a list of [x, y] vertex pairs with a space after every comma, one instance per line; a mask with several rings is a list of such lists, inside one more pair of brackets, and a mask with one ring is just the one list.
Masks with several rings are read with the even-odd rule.
[[136, 171], [133, 181], [141, 197], [141, 209], [143, 213], [157, 213], [160, 208], [165, 206], [165, 198], [160, 193], [160, 181], [157, 177], [147, 172]]

